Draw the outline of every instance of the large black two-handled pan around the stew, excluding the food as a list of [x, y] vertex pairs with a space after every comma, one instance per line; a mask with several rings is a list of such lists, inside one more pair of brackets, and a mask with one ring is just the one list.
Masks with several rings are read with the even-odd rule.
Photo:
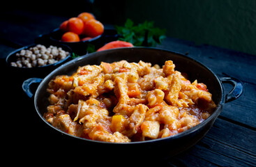
[[[61, 74], [73, 74], [73, 72], [75, 72], [79, 66], [88, 64], [100, 65], [101, 61], [112, 63], [114, 61], [121, 60], [136, 63], [142, 60], [144, 62], [152, 63], [152, 65], [158, 64], [160, 66], [164, 65], [165, 61], [172, 60], [176, 65], [175, 70], [186, 72], [190, 81], [197, 79], [198, 82], [206, 84], [209, 92], [212, 93], [213, 101], [217, 105], [216, 110], [204, 122], [191, 129], [188, 129], [185, 132], [176, 134], [175, 136], [132, 143], [107, 143], [71, 136], [53, 127], [43, 118], [43, 113], [47, 111], [47, 106], [49, 105], [47, 100], [49, 94], [46, 91], [47, 84], [52, 78]], [[75, 148], [74, 145], [79, 145], [79, 148], [82, 147], [86, 150], [91, 149], [90, 151], [96, 150], [97, 152], [99, 149], [111, 150], [112, 152], [116, 152], [116, 154], [121, 152], [122, 155], [125, 152], [128, 154], [130, 154], [130, 152], [144, 152], [144, 154], [152, 154], [153, 151], [156, 151], [157, 154], [177, 154], [190, 148], [190, 146], [197, 143], [197, 141], [199, 141], [206, 134], [206, 132], [209, 131], [213, 125], [213, 122], [222, 111], [223, 105], [227, 102], [235, 100], [243, 92], [243, 84], [241, 81], [232, 77], [218, 78], [216, 74], [214, 74], [208, 67], [193, 60], [192, 58], [183, 56], [181, 54], [176, 54], [172, 51], [144, 47], [110, 49], [107, 51], [99, 51], [93, 54], [87, 54], [85, 56], [75, 58], [73, 61], [58, 67], [56, 70], [48, 74], [45, 79], [31, 78], [24, 81], [22, 88], [28, 95], [32, 94], [29, 86], [34, 82], [40, 82], [34, 95], [34, 105], [38, 116], [40, 116], [46, 125], [52, 127], [48, 128], [47, 130], [50, 129], [52, 132], [62, 134], [59, 135], [59, 139], [61, 139], [61, 141], [66, 140], [65, 138], [68, 138], [68, 141], [71, 142], [70, 146], [72, 145], [72, 148]], [[233, 89], [227, 95], [225, 95], [223, 83], [232, 84], [233, 86]], [[52, 135], [52, 132], [49, 132], [49, 135]]]

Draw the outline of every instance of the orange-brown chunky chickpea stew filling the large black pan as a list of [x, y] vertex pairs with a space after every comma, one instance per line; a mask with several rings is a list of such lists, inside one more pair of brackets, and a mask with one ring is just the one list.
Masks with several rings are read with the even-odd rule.
[[146, 141], [179, 134], [216, 109], [205, 84], [151, 63], [100, 63], [79, 67], [48, 84], [44, 118], [61, 131], [106, 142]]

